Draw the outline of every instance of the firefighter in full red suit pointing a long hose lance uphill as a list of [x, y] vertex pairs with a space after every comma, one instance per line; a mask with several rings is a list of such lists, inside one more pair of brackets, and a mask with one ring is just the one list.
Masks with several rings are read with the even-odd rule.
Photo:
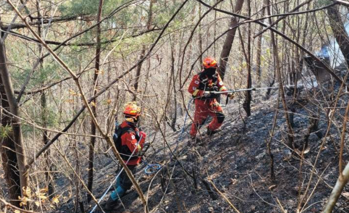
[[[195, 98], [194, 123], [192, 124], [190, 135], [196, 138], [200, 129], [210, 115], [213, 119], [207, 127], [207, 135], [218, 132], [224, 121], [223, 109], [216, 100], [215, 94], [205, 93], [205, 91], [227, 91], [219, 74], [216, 72], [219, 67], [218, 61], [213, 57], [206, 57], [203, 60], [203, 71], [195, 75], [189, 85], [188, 91]], [[233, 99], [233, 93], [225, 94]]]

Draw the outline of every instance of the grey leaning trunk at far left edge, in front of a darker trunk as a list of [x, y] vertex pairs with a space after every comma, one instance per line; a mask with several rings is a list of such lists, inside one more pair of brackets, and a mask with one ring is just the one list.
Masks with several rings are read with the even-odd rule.
[[14, 135], [14, 143], [16, 149], [17, 163], [19, 169], [19, 177], [21, 183], [21, 194], [24, 197], [24, 190], [29, 187], [29, 174], [26, 172], [27, 158], [26, 151], [24, 149], [21, 120], [18, 118], [18, 103], [13, 91], [12, 81], [7, 69], [5, 44], [2, 38], [0, 38], [0, 75], [3, 83], [3, 87], [8, 100], [10, 112], [11, 112], [11, 127]]

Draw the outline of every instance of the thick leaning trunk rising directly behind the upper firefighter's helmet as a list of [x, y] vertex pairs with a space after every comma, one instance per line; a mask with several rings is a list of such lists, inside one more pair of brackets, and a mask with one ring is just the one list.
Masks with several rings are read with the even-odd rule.
[[[244, 3], [244, 0], [236, 1], [236, 5], [234, 8], [235, 13], [237, 14], [240, 13], [243, 3]], [[229, 28], [234, 27], [237, 24], [237, 21], [238, 21], [237, 18], [233, 17], [230, 22]], [[227, 37], [226, 37], [226, 40], [224, 41], [224, 45], [222, 48], [221, 58], [219, 60], [220, 66], [218, 68], [218, 73], [221, 76], [222, 80], [224, 80], [224, 75], [226, 73], [229, 54], [230, 54], [230, 51], [232, 50], [236, 29], [237, 27], [234, 27], [232, 30], [230, 30], [227, 33]]]

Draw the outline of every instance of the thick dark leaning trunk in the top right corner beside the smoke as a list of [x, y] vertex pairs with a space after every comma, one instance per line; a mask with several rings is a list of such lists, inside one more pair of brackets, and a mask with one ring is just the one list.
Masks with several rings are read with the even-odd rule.
[[347, 61], [347, 66], [349, 66], [349, 36], [342, 22], [341, 14], [338, 11], [338, 5], [329, 7], [327, 9], [327, 14], [329, 16], [333, 35]]

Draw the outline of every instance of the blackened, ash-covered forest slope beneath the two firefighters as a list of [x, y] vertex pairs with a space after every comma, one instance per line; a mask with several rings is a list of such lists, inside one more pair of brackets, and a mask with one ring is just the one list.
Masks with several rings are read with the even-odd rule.
[[[171, 128], [168, 128], [165, 132], [167, 142], [180, 163], [173, 160], [167, 147], [164, 149], [165, 143], [160, 133], [157, 133], [156, 136], [149, 136], [150, 140], [154, 137], [155, 140], [154, 147], [150, 148], [147, 153], [146, 161], [164, 163], [166, 159], [172, 159], [167, 164], [168, 169], [163, 168], [149, 176], [144, 172], [145, 164], [138, 166], [136, 179], [148, 200], [149, 210], [155, 213], [234, 212], [226, 200], [228, 199], [241, 213], [295, 213], [299, 203], [301, 203], [300, 209], [303, 208], [305, 213], [320, 212], [338, 177], [336, 150], [339, 149], [340, 141], [338, 133], [333, 128], [331, 137], [326, 138], [307, 190], [307, 194], [311, 196], [309, 199], [307, 196], [305, 200], [300, 201], [309, 183], [312, 165], [323, 139], [320, 139], [316, 133], [310, 135], [309, 152], [304, 155], [300, 168], [301, 158], [297, 154], [291, 157], [291, 151], [285, 145], [287, 128], [280, 101], [275, 134], [270, 145], [275, 173], [275, 182], [271, 181], [270, 157], [266, 141], [270, 138], [269, 131], [273, 127], [277, 90], [272, 91], [269, 100], [265, 100], [263, 96], [264, 92], [254, 93], [250, 117], [245, 116], [244, 110], [238, 103], [230, 103], [224, 107], [226, 120], [222, 131], [208, 137], [205, 133], [206, 128], [202, 128], [204, 140], [200, 144], [191, 142], [187, 137], [187, 132], [184, 132], [182, 140], [176, 141], [181, 131], [173, 133]], [[301, 105], [304, 107], [297, 107]], [[309, 111], [312, 110], [317, 111], [315, 106], [306, 100], [296, 105], [293, 127], [296, 143], [303, 141], [307, 133]], [[319, 121], [319, 129], [322, 134], [325, 134], [327, 128], [325, 116], [321, 115]], [[183, 118], [180, 118], [177, 123], [180, 123], [180, 120], [183, 122]], [[187, 131], [190, 123], [188, 119]], [[302, 145], [298, 144], [298, 146]], [[345, 154], [344, 158], [348, 160], [348, 154]], [[183, 168], [195, 178], [185, 174]], [[96, 159], [93, 194], [97, 198], [102, 196], [114, 179], [116, 169], [116, 163], [110, 157]], [[172, 181], [169, 182], [171, 175]], [[210, 180], [226, 199], [217, 192]], [[168, 183], [170, 184], [167, 185]], [[63, 188], [67, 183], [58, 178], [56, 184], [57, 188]], [[347, 186], [337, 203], [335, 212], [349, 213], [348, 191]], [[108, 199], [108, 196], [105, 200]], [[60, 207], [54, 212], [73, 212], [73, 200], [71, 198], [60, 203]], [[115, 212], [144, 212], [142, 202], [133, 187], [132, 191], [122, 198], [122, 201], [125, 209], [121, 208]], [[90, 207], [93, 206], [94, 203], [91, 201]], [[87, 204], [85, 204], [85, 210], [89, 212], [91, 208], [87, 210]], [[101, 211], [97, 209], [95, 212]]]

